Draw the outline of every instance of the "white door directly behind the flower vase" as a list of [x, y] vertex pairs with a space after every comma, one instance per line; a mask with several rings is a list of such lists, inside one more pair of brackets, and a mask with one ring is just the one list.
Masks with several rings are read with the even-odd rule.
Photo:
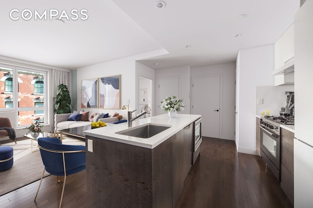
[[177, 96], [180, 97], [179, 94], [179, 76], [175, 77], [166, 77], [158, 79], [158, 115], [167, 113], [161, 108], [161, 101], [163, 101], [164, 97], [169, 96]]

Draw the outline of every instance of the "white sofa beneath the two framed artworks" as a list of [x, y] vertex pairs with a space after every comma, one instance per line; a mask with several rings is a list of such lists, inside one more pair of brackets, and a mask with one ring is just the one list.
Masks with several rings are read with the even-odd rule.
[[[90, 125], [90, 121], [68, 121], [67, 118], [72, 113], [62, 113], [62, 114], [55, 114], [54, 115], [54, 129], [55, 131], [60, 131], [61, 129], [69, 129], [79, 126], [86, 126]], [[105, 122], [105, 123], [114, 123], [115, 121], [118, 121], [118, 118], [115, 117], [108, 117], [108, 118], [100, 118], [99, 121]]]

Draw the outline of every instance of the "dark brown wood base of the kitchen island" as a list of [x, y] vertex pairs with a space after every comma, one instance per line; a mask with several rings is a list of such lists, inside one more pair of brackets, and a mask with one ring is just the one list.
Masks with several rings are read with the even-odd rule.
[[192, 167], [193, 126], [154, 149], [87, 135], [87, 207], [175, 207]]

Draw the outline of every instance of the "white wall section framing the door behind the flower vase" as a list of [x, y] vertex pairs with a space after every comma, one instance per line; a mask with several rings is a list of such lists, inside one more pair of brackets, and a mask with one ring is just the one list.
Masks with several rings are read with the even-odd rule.
[[[180, 78], [180, 83], [181, 83], [181, 89], [180, 90], [180, 99], [183, 99], [183, 103], [185, 105], [185, 110], [179, 112], [182, 114], [190, 114], [190, 94], [191, 94], [191, 78], [190, 78], [190, 72], [191, 68], [190, 66], [179, 66], [179, 67], [173, 67], [173, 68], [167, 68], [167, 69], [158, 69], [156, 70], [156, 82], [155, 82], [155, 87], [156, 87], [156, 101], [155, 106], [156, 108], [154, 109], [154, 112], [157, 112], [157, 106], [161, 107], [159, 103], [163, 100], [163, 98], [159, 98], [160, 100], [157, 100], [158, 97], [158, 91], [157, 91], [157, 79], [158, 78], [164, 78], [164, 77], [171, 77], [171, 76], [179, 76]], [[169, 95], [172, 96], [172, 95]], [[178, 95], [177, 95], [178, 96]]]

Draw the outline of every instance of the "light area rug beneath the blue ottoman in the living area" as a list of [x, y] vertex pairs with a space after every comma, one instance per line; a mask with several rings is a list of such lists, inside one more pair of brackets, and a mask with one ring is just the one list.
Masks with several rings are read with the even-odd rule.
[[[40, 151], [31, 152], [31, 140], [18, 141], [17, 144], [3, 144], [13, 147], [14, 163], [13, 167], [6, 171], [0, 171], [0, 196], [19, 189], [25, 185], [40, 180], [44, 164], [41, 159]], [[85, 142], [76, 139], [65, 139], [63, 144], [85, 145]], [[38, 150], [38, 148], [33, 148]], [[50, 175], [45, 171], [45, 176]]]

